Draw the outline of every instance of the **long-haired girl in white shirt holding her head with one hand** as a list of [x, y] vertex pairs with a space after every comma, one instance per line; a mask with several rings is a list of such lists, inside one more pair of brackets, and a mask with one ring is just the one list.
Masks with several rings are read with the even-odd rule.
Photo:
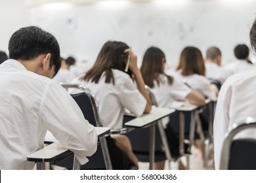
[[[125, 73], [128, 57], [131, 58], [131, 61], [129, 69]], [[137, 56], [123, 42], [106, 42], [93, 67], [85, 75], [72, 82], [87, 86], [95, 94], [103, 126], [112, 129], [123, 127], [125, 108], [136, 116], [151, 110], [150, 98], [144, 88], [145, 84], [137, 66]], [[79, 91], [71, 90], [70, 92], [77, 93]], [[132, 152], [129, 139], [125, 135], [115, 135], [112, 138], [116, 140], [116, 144], [112, 143], [111, 147], [111, 139], [108, 138], [108, 148], [114, 169], [129, 169], [129, 163], [131, 163], [129, 161], [138, 166], [138, 159]], [[114, 145], [118, 146], [129, 158], [125, 160], [127, 161], [126, 165], [118, 165], [117, 158], [123, 155], [112, 153]]]

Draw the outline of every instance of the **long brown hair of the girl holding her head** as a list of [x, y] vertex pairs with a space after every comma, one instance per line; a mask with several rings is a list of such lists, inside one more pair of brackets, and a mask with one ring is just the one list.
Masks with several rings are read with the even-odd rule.
[[[124, 51], [129, 46], [120, 41], [108, 41], [106, 42], [96, 58], [95, 64], [83, 77], [84, 80], [91, 80], [91, 82], [98, 83], [100, 76], [103, 72], [106, 75], [106, 83], [113, 82], [115, 84], [112, 69], [118, 69], [119, 71], [125, 71], [125, 65], [127, 63], [128, 54]], [[127, 72], [131, 75], [131, 71]]]

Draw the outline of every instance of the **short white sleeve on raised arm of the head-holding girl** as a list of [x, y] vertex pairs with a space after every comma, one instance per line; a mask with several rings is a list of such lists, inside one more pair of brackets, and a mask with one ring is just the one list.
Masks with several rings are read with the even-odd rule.
[[137, 89], [131, 78], [127, 78], [123, 83], [120, 93], [121, 104], [135, 116], [141, 116], [146, 108], [146, 99]]

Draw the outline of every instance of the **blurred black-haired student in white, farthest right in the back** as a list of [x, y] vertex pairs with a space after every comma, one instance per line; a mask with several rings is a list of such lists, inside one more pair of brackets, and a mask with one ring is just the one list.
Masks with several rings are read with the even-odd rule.
[[246, 46], [246, 44], [238, 44], [234, 48], [234, 56], [236, 56], [236, 60], [226, 65], [225, 66], [226, 69], [229, 69], [233, 73], [239, 73], [242, 71], [255, 69], [253, 65], [248, 63], [249, 48], [248, 46]]

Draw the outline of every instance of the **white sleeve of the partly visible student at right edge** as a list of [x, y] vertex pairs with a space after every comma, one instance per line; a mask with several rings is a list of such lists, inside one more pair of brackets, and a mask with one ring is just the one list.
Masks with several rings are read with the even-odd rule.
[[224, 84], [221, 88], [221, 92], [219, 93], [213, 122], [215, 169], [220, 169], [224, 135], [226, 131], [228, 131], [228, 124], [230, 121], [229, 108], [231, 97], [231, 88], [227, 84]]

